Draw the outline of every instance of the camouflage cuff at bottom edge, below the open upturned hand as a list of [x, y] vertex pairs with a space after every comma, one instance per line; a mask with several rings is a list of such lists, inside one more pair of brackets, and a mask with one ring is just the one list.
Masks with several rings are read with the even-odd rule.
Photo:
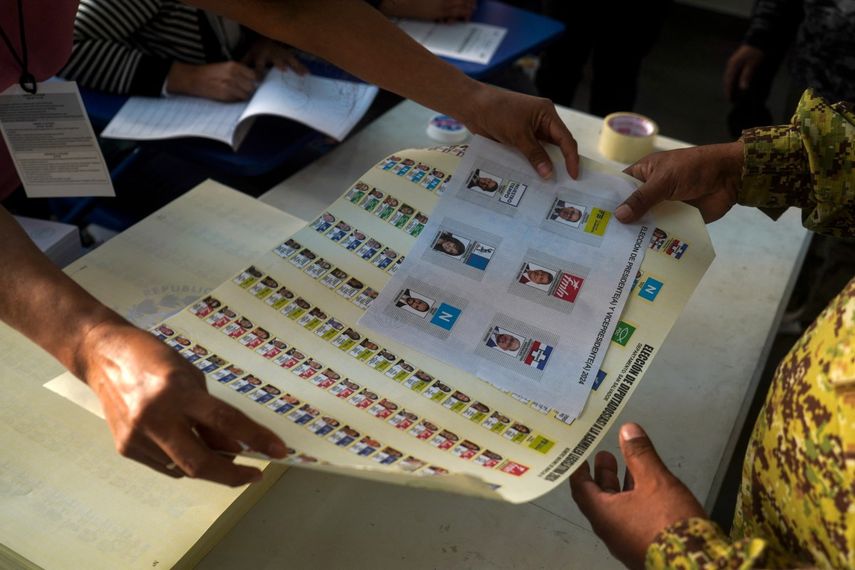
[[659, 533], [647, 549], [649, 570], [748, 569], [764, 566], [761, 539], [731, 541], [711, 520], [686, 519]]

